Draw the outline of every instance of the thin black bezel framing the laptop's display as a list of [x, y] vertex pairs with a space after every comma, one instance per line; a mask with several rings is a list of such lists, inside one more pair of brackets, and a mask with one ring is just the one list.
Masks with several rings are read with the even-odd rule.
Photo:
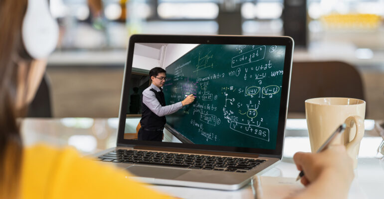
[[[129, 98], [129, 80], [132, 73], [132, 62], [135, 43], [180, 43], [180, 44], [236, 44], [236, 45], [283, 45], [286, 46], [283, 70], [283, 84], [280, 99], [279, 121], [277, 128], [276, 148], [260, 149], [260, 148], [247, 148], [247, 147], [229, 147], [229, 146], [215, 146], [203, 144], [187, 144], [187, 143], [173, 143], [173, 142], [155, 142], [155, 141], [140, 141], [124, 139], [124, 128], [126, 121], [127, 101]], [[225, 36], [225, 35], [132, 35], [129, 39], [127, 61], [124, 69], [124, 79], [122, 86], [122, 96], [120, 101], [119, 112], [119, 126], [117, 136], [117, 146], [149, 146], [149, 147], [167, 147], [167, 148], [183, 148], [193, 150], [208, 150], [220, 151], [230, 153], [244, 153], [244, 154], [259, 154], [267, 157], [282, 157], [285, 123], [288, 110], [288, 99], [290, 89], [290, 79], [292, 70], [292, 55], [293, 55], [294, 41], [291, 37], [261, 37], [261, 36]], [[288, 74], [288, 75], [286, 75]], [[172, 130], [166, 125], [166, 128]]]

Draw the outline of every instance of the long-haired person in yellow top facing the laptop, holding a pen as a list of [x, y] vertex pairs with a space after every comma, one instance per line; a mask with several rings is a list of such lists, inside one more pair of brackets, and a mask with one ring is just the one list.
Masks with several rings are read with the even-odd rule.
[[[23, 146], [16, 118], [33, 99], [46, 65], [32, 59], [22, 43], [26, 5], [27, 0], [0, 0], [0, 199], [171, 198], [73, 149]], [[298, 198], [347, 196], [353, 170], [343, 146], [319, 154], [299, 153], [295, 161], [308, 185]]]

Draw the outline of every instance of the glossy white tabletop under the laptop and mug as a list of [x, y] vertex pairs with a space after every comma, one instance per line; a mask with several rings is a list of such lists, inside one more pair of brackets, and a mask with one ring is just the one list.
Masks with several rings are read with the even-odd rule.
[[[360, 147], [358, 168], [355, 170], [356, 178], [351, 186], [350, 199], [382, 199], [384, 195], [384, 158], [376, 153], [382, 138], [374, 130], [374, 122], [373, 120], [365, 122], [366, 133]], [[88, 155], [116, 146], [117, 126], [118, 118], [26, 118], [22, 120], [21, 134], [26, 146], [37, 142], [46, 142], [55, 146], [71, 145], [80, 153]], [[283, 160], [263, 176], [297, 177], [299, 172], [296, 170], [292, 156], [297, 151], [310, 151], [306, 129], [305, 119], [287, 120]], [[170, 186], [151, 187], [187, 199], [253, 199], [250, 185], [237, 191]]]

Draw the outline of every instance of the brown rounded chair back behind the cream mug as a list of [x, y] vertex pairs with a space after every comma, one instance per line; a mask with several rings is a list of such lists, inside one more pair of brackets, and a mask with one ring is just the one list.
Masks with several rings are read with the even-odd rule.
[[304, 101], [321, 97], [365, 100], [359, 71], [354, 66], [339, 61], [294, 62], [288, 113], [305, 115]]

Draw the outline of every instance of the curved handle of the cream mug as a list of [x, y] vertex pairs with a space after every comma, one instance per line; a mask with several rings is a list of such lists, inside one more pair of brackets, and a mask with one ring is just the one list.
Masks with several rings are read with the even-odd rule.
[[[347, 145], [346, 149], [348, 152], [351, 152], [363, 139], [364, 136], [364, 120], [358, 116], [349, 116], [346, 120], [345, 123], [347, 125], [346, 132], [350, 132], [351, 128], [353, 127], [354, 124], [356, 124], [356, 134], [353, 140], [351, 140]], [[347, 131], [348, 130], [348, 131]]]

